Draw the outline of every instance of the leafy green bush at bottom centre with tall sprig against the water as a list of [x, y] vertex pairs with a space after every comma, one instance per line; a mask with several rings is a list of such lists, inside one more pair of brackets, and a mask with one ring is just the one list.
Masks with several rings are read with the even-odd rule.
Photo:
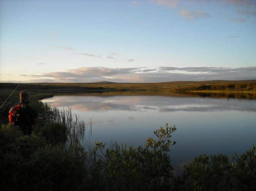
[[[102, 190], [166, 190], [173, 182], [173, 167], [167, 152], [175, 145], [169, 138], [176, 127], [154, 131], [158, 140], [147, 139], [145, 148], [133, 148], [96, 142], [90, 165], [91, 189]], [[95, 181], [101, 180], [101, 181]], [[100, 183], [99, 183], [100, 182]]]

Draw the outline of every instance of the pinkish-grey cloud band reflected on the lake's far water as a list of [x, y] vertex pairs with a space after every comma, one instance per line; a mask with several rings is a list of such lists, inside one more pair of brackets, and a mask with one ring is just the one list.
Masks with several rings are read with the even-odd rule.
[[[148, 93], [148, 92], [146, 92]], [[68, 96], [68, 97], [67, 97]], [[212, 99], [186, 97], [179, 94], [169, 96], [159, 95], [105, 95], [75, 94], [60, 95], [45, 100], [55, 106], [64, 106], [79, 111], [247, 111], [256, 112], [256, 102], [253, 100]]]

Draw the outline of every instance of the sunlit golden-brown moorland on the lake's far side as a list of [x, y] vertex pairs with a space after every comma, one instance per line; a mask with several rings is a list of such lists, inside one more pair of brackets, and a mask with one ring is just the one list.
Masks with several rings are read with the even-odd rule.
[[33, 85], [80, 88], [87, 91], [221, 91], [256, 92], [256, 80], [174, 81], [160, 83], [30, 83]]

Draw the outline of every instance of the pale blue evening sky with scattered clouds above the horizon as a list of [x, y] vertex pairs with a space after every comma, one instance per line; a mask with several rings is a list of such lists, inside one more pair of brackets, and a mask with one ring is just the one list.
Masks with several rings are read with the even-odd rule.
[[0, 0], [0, 82], [256, 79], [256, 0]]

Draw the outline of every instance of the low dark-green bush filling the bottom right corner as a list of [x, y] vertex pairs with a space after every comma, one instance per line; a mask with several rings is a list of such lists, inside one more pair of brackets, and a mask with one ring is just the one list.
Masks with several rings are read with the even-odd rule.
[[242, 154], [233, 156], [230, 162], [223, 154], [200, 155], [188, 166], [180, 180], [188, 190], [255, 190], [256, 156], [255, 146]]

